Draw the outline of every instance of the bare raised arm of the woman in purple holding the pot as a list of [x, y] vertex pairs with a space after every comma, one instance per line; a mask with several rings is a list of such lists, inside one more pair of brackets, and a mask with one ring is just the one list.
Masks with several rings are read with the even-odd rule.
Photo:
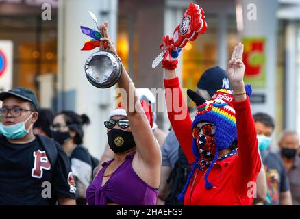
[[[114, 44], [108, 36], [108, 22], [105, 22], [105, 25], [101, 25], [100, 30], [104, 36], [101, 38], [101, 42], [106, 42], [109, 51], [116, 55]], [[162, 164], [160, 146], [153, 136], [145, 112], [135, 92], [134, 83], [124, 66], [122, 75], [118, 80], [118, 86], [126, 92], [126, 95], [122, 96], [122, 103], [125, 106], [134, 141], [136, 142], [136, 154], [147, 168], [160, 169]]]

